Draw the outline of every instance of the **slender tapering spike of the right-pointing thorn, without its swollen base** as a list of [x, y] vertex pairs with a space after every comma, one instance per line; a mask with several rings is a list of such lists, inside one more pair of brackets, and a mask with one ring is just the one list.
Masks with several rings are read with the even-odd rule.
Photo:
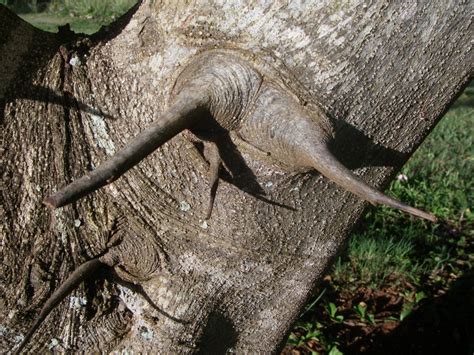
[[368, 185], [342, 165], [324, 145], [320, 145], [317, 148], [315, 147], [310, 159], [312, 166], [329, 180], [374, 205], [387, 205], [431, 222], [437, 221], [436, 216], [433, 214], [397, 201]]

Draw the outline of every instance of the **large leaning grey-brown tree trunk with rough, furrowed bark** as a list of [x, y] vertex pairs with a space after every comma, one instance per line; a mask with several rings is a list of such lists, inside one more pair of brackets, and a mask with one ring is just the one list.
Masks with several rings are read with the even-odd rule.
[[[26, 349], [276, 351], [366, 207], [343, 166], [390, 181], [472, 76], [472, 18], [149, 1], [87, 38], [0, 7], [2, 348], [83, 265]], [[139, 158], [97, 168], [152, 122]], [[46, 204], [84, 198], [42, 204], [72, 181]]]

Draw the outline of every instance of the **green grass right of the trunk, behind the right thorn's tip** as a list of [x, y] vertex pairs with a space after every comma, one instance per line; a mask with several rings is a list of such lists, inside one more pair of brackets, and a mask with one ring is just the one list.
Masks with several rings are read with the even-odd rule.
[[[402, 169], [408, 181], [394, 181], [389, 194], [429, 209], [442, 221], [433, 225], [393, 209], [380, 207], [365, 216], [363, 228], [351, 238], [347, 257], [334, 269], [380, 288], [392, 274], [416, 281], [440, 267], [438, 259], [457, 255], [441, 229], [473, 237], [474, 92], [468, 88]], [[451, 238], [452, 239], [452, 238]], [[431, 271], [432, 272], [432, 271]]]

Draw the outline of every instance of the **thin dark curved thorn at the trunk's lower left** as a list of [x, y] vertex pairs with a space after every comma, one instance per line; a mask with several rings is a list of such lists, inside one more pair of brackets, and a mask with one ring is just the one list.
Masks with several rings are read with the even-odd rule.
[[100, 267], [105, 264], [99, 260], [99, 258], [91, 259], [81, 264], [76, 270], [72, 272], [71, 275], [64, 281], [59, 288], [53, 292], [51, 297], [48, 298], [46, 303], [39, 316], [36, 318], [32, 327], [26, 334], [23, 341], [18, 346], [18, 349], [15, 350], [14, 354], [20, 354], [21, 350], [28, 344], [33, 334], [38, 330], [46, 317], [51, 313], [51, 311], [62, 301], [64, 300], [82, 281], [86, 278], [93, 275]]

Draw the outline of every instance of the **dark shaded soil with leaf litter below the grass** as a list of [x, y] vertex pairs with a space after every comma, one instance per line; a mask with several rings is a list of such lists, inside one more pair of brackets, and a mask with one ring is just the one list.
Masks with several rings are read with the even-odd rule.
[[[462, 270], [459, 277], [444, 268], [436, 280], [428, 277], [421, 285], [398, 279], [378, 290], [348, 291], [350, 286], [326, 276], [316, 292], [325, 289], [323, 299], [295, 325], [292, 333], [299, 341], [289, 342], [282, 354], [474, 354], [474, 243], [468, 238], [463, 247], [467, 261], [453, 261]], [[420, 287], [426, 298], [417, 300]], [[337, 306], [339, 319], [329, 316], [328, 302]], [[366, 305], [363, 318], [354, 310], [361, 302]], [[407, 305], [411, 312], [404, 312]], [[317, 323], [316, 331], [305, 327]], [[314, 336], [308, 335], [311, 331]], [[340, 352], [330, 351], [334, 345]]]

